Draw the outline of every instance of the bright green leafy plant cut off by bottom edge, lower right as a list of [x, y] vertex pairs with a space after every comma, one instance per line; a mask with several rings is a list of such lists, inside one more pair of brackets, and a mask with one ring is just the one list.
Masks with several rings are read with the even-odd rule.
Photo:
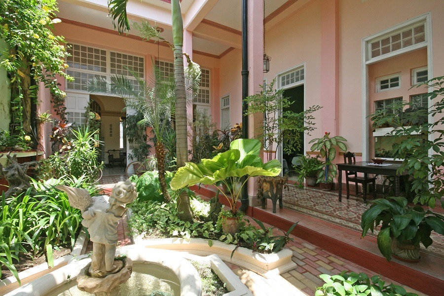
[[315, 296], [418, 296], [407, 293], [406, 289], [395, 284], [385, 285], [379, 275], [371, 278], [363, 272], [342, 271], [338, 275], [321, 274], [324, 286], [316, 288]]

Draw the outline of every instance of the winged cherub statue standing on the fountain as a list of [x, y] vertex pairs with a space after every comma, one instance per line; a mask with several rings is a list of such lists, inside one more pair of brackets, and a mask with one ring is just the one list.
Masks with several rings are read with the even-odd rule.
[[114, 261], [117, 222], [125, 214], [124, 205], [136, 199], [136, 185], [130, 180], [119, 182], [112, 188], [109, 197], [91, 197], [86, 189], [66, 185], [58, 185], [56, 188], [65, 191], [70, 205], [82, 212], [82, 225], [88, 228], [90, 240], [93, 242], [90, 275], [103, 277], [119, 271], [121, 266], [118, 264], [121, 261]]

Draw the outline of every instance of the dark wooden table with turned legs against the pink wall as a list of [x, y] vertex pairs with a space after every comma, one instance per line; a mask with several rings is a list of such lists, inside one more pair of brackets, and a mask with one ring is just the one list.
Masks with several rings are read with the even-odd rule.
[[[399, 162], [384, 162], [384, 165], [373, 165], [368, 164], [370, 161], [357, 161], [355, 163], [338, 163], [338, 178], [337, 182], [339, 183], [339, 201], [342, 201], [342, 171], [350, 171], [357, 173], [364, 173], [364, 176], [367, 177], [367, 174], [375, 174], [375, 175], [384, 175], [384, 176], [393, 176], [395, 177], [395, 196], [399, 196], [399, 176], [407, 175], [407, 171], [398, 173], [398, 169], [401, 167], [401, 163]], [[385, 165], [389, 164], [389, 165]]]

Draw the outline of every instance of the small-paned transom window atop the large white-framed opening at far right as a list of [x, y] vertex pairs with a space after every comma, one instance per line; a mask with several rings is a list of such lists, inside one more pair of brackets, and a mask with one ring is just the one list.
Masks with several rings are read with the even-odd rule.
[[385, 36], [370, 42], [370, 58], [388, 54], [425, 41], [425, 24], [415, 24], [391, 33], [390, 36]]

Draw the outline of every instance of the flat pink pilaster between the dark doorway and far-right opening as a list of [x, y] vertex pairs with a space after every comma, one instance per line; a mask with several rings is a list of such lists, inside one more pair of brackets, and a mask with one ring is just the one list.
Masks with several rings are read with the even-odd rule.
[[322, 131], [339, 132], [339, 7], [338, 0], [321, 1]]

